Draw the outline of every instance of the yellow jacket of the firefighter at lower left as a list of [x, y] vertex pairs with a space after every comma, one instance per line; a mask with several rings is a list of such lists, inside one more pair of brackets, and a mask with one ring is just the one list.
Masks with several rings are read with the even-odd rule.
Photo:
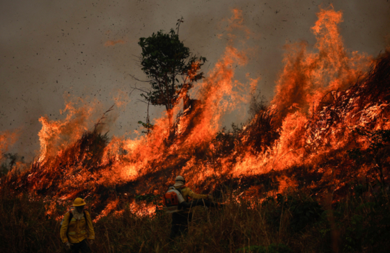
[[[85, 215], [80, 220], [76, 220], [75, 217], [69, 222], [70, 213], [65, 213], [63, 223], [61, 226], [60, 236], [63, 243], [80, 243], [85, 238], [94, 240], [95, 231], [93, 231], [91, 215], [88, 211], [84, 211]], [[85, 217], [84, 217], [85, 216]]]

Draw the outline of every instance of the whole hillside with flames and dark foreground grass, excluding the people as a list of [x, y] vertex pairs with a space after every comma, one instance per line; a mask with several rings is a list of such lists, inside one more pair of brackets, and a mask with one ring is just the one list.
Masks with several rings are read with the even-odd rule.
[[[318, 53], [290, 46], [271, 104], [231, 130], [219, 120], [247, 101], [232, 67], [247, 57], [230, 45], [200, 98], [183, 113], [173, 108], [171, 129], [163, 117], [136, 140], [109, 138], [100, 121], [88, 126], [91, 108], [72, 104], [65, 120], [42, 117], [40, 157], [0, 179], [4, 245], [59, 251], [54, 220], [84, 197], [104, 252], [381, 252], [389, 246], [390, 51], [375, 60], [349, 54], [341, 20], [321, 10], [312, 28]], [[226, 206], [196, 211], [189, 236], [169, 243], [159, 195], [178, 174]]]

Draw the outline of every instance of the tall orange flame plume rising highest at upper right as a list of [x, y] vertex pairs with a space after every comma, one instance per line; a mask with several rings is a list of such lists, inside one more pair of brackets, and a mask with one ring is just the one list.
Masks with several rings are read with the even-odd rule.
[[343, 21], [341, 12], [322, 9], [317, 16], [311, 31], [317, 39], [318, 53], [308, 52], [306, 42], [286, 45], [285, 67], [276, 82], [276, 95], [272, 100], [280, 121], [288, 113], [315, 110], [327, 92], [356, 81], [372, 63], [366, 54], [356, 51], [348, 54], [344, 49], [338, 29]]

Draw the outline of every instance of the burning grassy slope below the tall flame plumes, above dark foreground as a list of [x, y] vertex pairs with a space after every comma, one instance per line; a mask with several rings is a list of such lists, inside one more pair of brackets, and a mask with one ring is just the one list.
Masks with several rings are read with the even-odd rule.
[[94, 127], [55, 155], [45, 152], [45, 159], [31, 163], [29, 170], [13, 168], [2, 177], [2, 189], [29, 191], [59, 204], [76, 196], [90, 198], [93, 208], [106, 215], [117, 210], [118, 204], [110, 203], [119, 194], [161, 194], [176, 174], [191, 179], [189, 186], [197, 192], [233, 182], [237, 188], [258, 186], [263, 195], [288, 187], [325, 195], [334, 187], [335, 196], [343, 196], [343, 188], [357, 177], [384, 185], [389, 176], [389, 66], [386, 51], [350, 88], [327, 93], [309, 120], [290, 113], [279, 128], [277, 111], [270, 106], [248, 124], [219, 131], [196, 147], [181, 135], [191, 131], [170, 133], [169, 142], [161, 142], [158, 131], [132, 142], [110, 140]]

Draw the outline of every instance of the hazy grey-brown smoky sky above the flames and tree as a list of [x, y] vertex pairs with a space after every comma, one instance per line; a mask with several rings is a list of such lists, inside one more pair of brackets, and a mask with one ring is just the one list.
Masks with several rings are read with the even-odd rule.
[[[315, 43], [310, 28], [322, 4], [343, 11], [341, 34], [345, 47], [373, 56], [389, 42], [390, 2], [387, 0], [340, 1], [75, 1], [13, 0], [0, 2], [0, 132], [20, 129], [10, 152], [33, 154], [39, 149], [41, 115], [62, 118], [64, 95], [98, 98], [102, 108], [114, 104], [118, 92], [130, 93], [130, 74], [143, 78], [136, 63], [139, 38], [174, 28], [184, 17], [180, 40], [208, 62], [211, 70], [227, 40], [226, 19], [232, 9], [242, 10], [244, 26], [251, 31], [247, 47], [249, 63], [239, 72], [260, 77], [258, 89], [268, 100], [283, 67], [283, 45], [299, 40]], [[115, 42], [117, 42], [115, 44]], [[128, 94], [127, 93], [127, 94]], [[139, 127], [146, 106], [139, 94], [127, 97], [125, 108], [110, 133], [121, 135]], [[160, 109], [152, 108], [153, 117]], [[244, 121], [234, 118], [235, 123]], [[233, 121], [230, 117], [226, 124]]]

